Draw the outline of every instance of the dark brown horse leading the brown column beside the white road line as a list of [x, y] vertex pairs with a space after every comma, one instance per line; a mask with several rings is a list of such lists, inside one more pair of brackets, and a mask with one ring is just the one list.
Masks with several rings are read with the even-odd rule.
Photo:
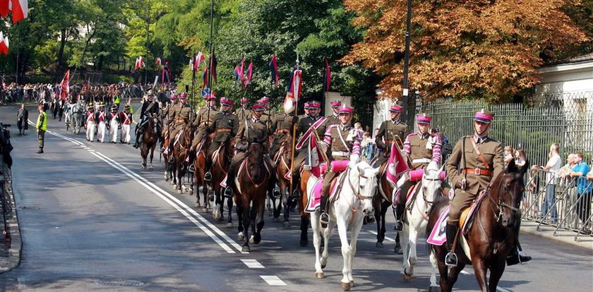
[[[268, 191], [268, 183], [272, 178], [266, 166], [264, 157], [264, 145], [252, 142], [247, 148], [246, 159], [243, 170], [236, 174], [234, 185], [234, 200], [236, 202], [236, 215], [239, 220], [239, 241], [245, 241], [242, 251], [248, 252], [249, 241], [255, 244], [261, 241], [261, 229], [263, 229], [263, 212], [265, 209], [265, 194]], [[236, 171], [241, 170], [237, 167]], [[249, 238], [249, 226], [251, 226], [252, 238]]]

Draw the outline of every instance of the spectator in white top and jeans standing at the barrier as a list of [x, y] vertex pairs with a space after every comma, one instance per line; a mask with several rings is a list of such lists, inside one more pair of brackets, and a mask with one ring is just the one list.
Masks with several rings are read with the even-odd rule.
[[[556, 181], [558, 181], [558, 171], [562, 164], [562, 158], [558, 154], [560, 146], [558, 143], [550, 145], [550, 152], [548, 154], [548, 162], [542, 169], [546, 172], [546, 197], [541, 205], [541, 219], [548, 212], [551, 212], [551, 221], [556, 222]], [[551, 211], [550, 211], [551, 209]]]

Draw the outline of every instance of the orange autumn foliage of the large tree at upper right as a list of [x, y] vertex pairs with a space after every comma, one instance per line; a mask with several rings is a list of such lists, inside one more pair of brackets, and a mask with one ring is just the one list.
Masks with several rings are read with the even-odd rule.
[[[539, 83], [540, 52], [587, 41], [563, 0], [412, 2], [409, 84], [426, 99], [503, 102]], [[570, 2], [570, 3], [574, 3]], [[366, 28], [341, 61], [361, 62], [384, 78], [386, 97], [402, 92], [407, 0], [345, 0]]]

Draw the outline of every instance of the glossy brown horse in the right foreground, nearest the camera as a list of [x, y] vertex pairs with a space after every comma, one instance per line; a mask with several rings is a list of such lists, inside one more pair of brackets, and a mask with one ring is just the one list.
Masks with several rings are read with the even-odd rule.
[[[501, 279], [506, 267], [506, 257], [510, 250], [515, 248], [518, 240], [517, 234], [520, 225], [519, 205], [521, 194], [525, 190], [523, 176], [529, 169], [529, 163], [517, 167], [511, 160], [506, 169], [491, 181], [486, 195], [481, 200], [479, 209], [474, 215], [472, 226], [469, 227], [465, 238], [469, 246], [471, 260], [462, 249], [462, 238], [457, 238], [457, 267], [448, 268], [445, 265], [445, 255], [448, 250], [443, 245], [431, 246], [431, 262], [433, 273], [438, 264], [441, 274], [441, 291], [448, 292], [453, 289], [457, 276], [466, 264], [472, 264], [476, 279], [481, 291], [496, 291], [498, 281]], [[447, 197], [441, 197], [434, 202], [429, 212], [429, 224], [426, 234], [431, 233], [443, 209], [449, 205]], [[486, 273], [490, 270], [490, 279], [486, 280]], [[431, 276], [431, 282], [436, 277]], [[431, 286], [429, 291], [436, 290]]]

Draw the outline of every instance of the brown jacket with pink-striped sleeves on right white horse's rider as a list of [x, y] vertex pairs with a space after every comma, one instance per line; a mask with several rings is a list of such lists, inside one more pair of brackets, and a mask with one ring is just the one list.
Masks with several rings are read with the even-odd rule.
[[404, 150], [412, 162], [412, 169], [424, 169], [430, 162], [441, 164], [441, 139], [436, 134], [411, 133], [406, 137]]

